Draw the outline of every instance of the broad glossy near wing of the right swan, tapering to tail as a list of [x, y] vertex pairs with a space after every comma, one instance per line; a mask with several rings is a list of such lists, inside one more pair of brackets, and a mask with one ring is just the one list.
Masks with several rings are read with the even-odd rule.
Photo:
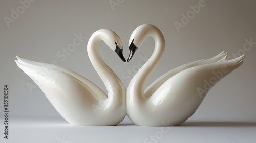
[[[207, 92], [222, 78], [243, 64], [244, 56], [212, 64], [199, 65], [181, 71], [164, 82], [147, 99], [148, 112], [164, 113], [183, 122], [194, 114]], [[168, 113], [166, 113], [166, 111]], [[179, 118], [178, 118], [179, 117]], [[184, 120], [181, 120], [183, 118]]]

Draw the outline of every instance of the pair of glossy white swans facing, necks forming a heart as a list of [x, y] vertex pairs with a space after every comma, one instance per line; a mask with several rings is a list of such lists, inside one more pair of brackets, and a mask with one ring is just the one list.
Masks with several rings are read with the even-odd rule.
[[[179, 125], [194, 114], [214, 84], [243, 63], [244, 56], [227, 60], [227, 53], [223, 51], [213, 58], [190, 62], [170, 70], [144, 90], [148, 77], [158, 65], [165, 49], [161, 31], [149, 24], [137, 27], [129, 40], [130, 54], [127, 59], [131, 60], [147, 37], [155, 40], [154, 52], [132, 78], [127, 91], [98, 53], [98, 43], [102, 40], [126, 61], [120, 38], [108, 29], [93, 33], [87, 45], [88, 56], [108, 94], [90, 80], [67, 68], [34, 62], [19, 56], [15, 61], [40, 87], [66, 121], [81, 126], [117, 125], [126, 114], [136, 125]], [[51, 73], [42, 75], [46, 67], [51, 67]], [[212, 83], [211, 86], [209, 83]]]

